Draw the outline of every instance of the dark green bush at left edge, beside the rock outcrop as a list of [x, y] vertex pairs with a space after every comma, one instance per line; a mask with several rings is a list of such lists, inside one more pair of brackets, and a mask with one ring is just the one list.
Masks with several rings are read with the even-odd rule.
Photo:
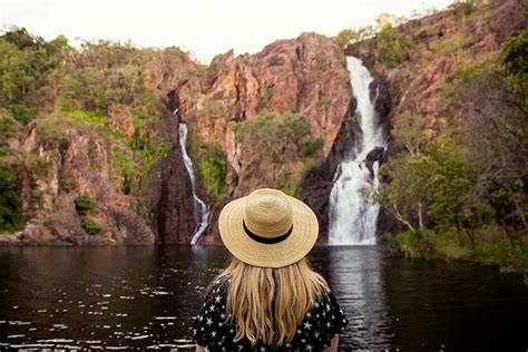
[[13, 168], [0, 163], [0, 231], [14, 232], [22, 226], [21, 203]]

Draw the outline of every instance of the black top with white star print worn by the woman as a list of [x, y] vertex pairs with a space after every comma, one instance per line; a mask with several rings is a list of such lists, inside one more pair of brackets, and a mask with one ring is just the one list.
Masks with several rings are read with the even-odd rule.
[[294, 339], [283, 348], [263, 343], [252, 345], [247, 339], [234, 341], [236, 327], [226, 319], [227, 287], [231, 280], [213, 283], [193, 327], [196, 343], [207, 351], [321, 351], [330, 346], [335, 334], [349, 324], [332, 291], [327, 290], [306, 312]]

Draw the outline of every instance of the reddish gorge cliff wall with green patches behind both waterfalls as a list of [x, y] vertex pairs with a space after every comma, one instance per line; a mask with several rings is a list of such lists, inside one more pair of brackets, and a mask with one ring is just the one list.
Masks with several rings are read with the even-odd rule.
[[[410, 45], [398, 62], [382, 62], [378, 37], [344, 52], [373, 72], [387, 130], [403, 111], [434, 126], [449, 123], [441, 90], [461, 58], [496, 53], [527, 18], [522, 0], [495, 1], [462, 19], [443, 11], [402, 25]], [[25, 101], [35, 107], [31, 120], [0, 109], [9, 127], [0, 130], [1, 157], [14, 170], [23, 218], [0, 239], [189, 243], [193, 193], [178, 149], [178, 124], [186, 123], [201, 198], [213, 206], [198, 243], [218, 243], [222, 206], [263, 186], [303, 198], [325, 242], [332, 179], [358, 128], [344, 52], [335, 39], [304, 33], [255, 55], [218, 55], [207, 67], [175, 48], [98, 43], [65, 55]], [[394, 226], [383, 214], [380, 225]]]

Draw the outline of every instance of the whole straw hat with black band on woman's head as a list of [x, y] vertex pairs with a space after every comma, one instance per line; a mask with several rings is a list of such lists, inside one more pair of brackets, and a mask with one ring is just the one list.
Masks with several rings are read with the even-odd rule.
[[244, 263], [282, 267], [302, 260], [319, 234], [317, 217], [303, 202], [261, 188], [228, 203], [218, 228], [227, 250]]

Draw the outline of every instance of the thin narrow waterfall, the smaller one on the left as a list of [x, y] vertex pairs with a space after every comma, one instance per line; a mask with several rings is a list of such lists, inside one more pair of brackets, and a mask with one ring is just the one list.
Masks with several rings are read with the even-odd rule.
[[[177, 114], [177, 109], [174, 111], [174, 114]], [[193, 199], [194, 199], [194, 217], [196, 221], [196, 228], [195, 233], [193, 235], [193, 238], [190, 239], [190, 244], [196, 244], [198, 241], [199, 236], [204, 233], [204, 231], [207, 228], [207, 225], [209, 224], [209, 208], [205, 204], [204, 201], [202, 201], [198, 195], [196, 194], [196, 174], [194, 172], [194, 166], [193, 166], [193, 160], [187, 154], [187, 125], [180, 123], [179, 124], [179, 148], [182, 149], [182, 156], [184, 157], [184, 164], [185, 168], [187, 169], [187, 173], [189, 174], [190, 178], [190, 187], [193, 189]]]

